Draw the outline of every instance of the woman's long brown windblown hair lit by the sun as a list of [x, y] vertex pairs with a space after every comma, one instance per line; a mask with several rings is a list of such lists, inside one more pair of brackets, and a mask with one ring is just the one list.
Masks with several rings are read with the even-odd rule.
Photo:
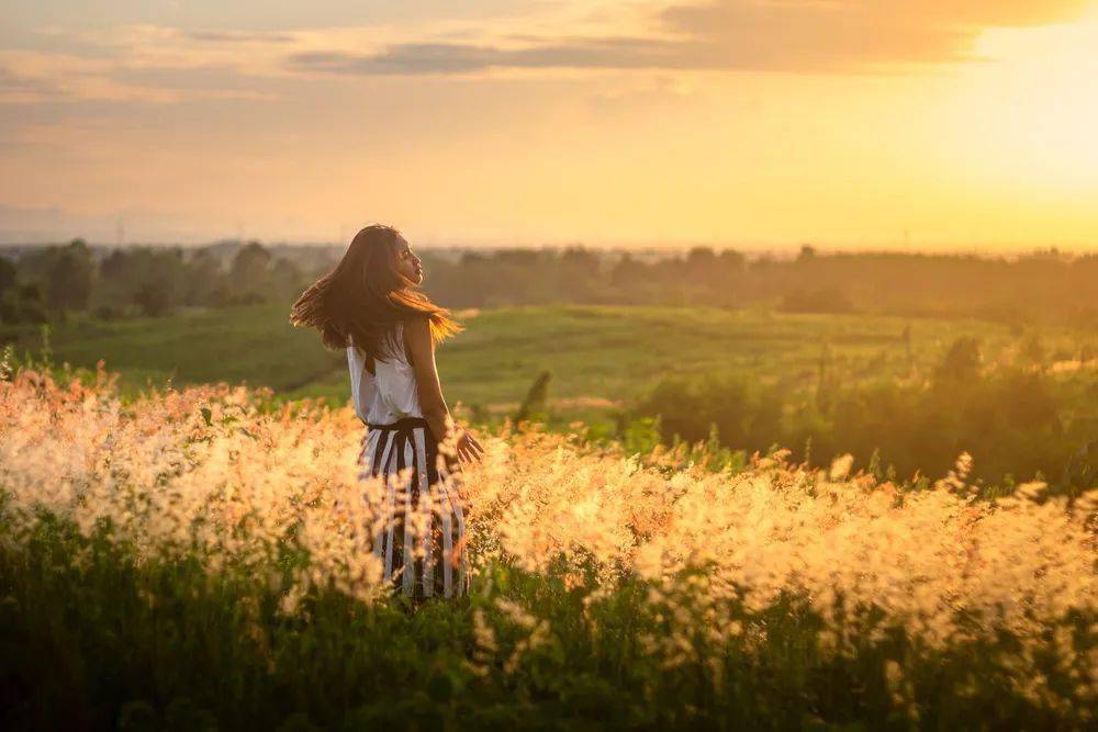
[[293, 303], [290, 323], [316, 328], [328, 348], [354, 344], [378, 361], [401, 352], [395, 328], [408, 317], [425, 316], [436, 344], [460, 331], [448, 309], [435, 305], [396, 271], [399, 238], [400, 232], [381, 224], [356, 234], [336, 268]]

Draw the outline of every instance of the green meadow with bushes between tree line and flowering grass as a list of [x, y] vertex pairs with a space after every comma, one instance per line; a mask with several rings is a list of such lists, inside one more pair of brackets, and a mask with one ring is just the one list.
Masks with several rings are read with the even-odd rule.
[[[899, 480], [943, 474], [967, 451], [974, 478], [990, 486], [1098, 485], [1093, 330], [762, 304], [515, 306], [459, 316], [467, 330], [437, 361], [451, 406], [473, 424], [524, 416], [571, 431], [583, 423], [589, 438], [635, 450], [676, 436], [710, 440], [738, 452], [725, 462], [739, 465], [776, 447], [815, 466], [849, 452], [879, 477]], [[43, 348], [35, 326], [0, 336], [20, 354]], [[120, 320], [70, 315], [47, 341], [55, 365], [94, 369], [104, 360], [126, 398], [222, 381], [270, 388], [279, 403], [340, 407], [348, 398], [345, 354], [292, 328], [282, 306]], [[950, 379], [946, 365], [956, 372]]]

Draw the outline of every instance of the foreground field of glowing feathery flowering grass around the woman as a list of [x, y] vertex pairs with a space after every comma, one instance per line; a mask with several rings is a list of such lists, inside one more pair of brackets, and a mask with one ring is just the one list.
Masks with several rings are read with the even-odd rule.
[[1095, 723], [1098, 492], [505, 430], [460, 485], [471, 596], [411, 608], [361, 424], [269, 396], [3, 374], [5, 729]]

